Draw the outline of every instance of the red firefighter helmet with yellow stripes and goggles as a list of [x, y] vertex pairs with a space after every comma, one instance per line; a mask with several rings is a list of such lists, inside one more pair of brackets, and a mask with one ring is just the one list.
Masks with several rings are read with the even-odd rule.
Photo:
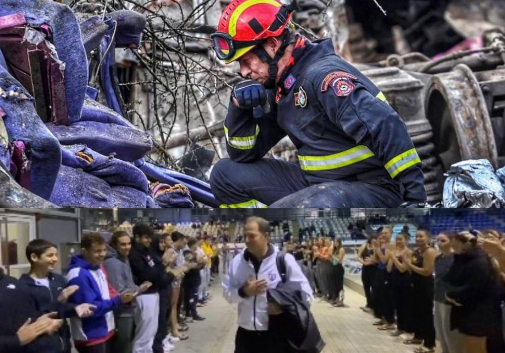
[[291, 11], [277, 0], [233, 0], [211, 37], [218, 58], [229, 64], [270, 37], [282, 34]]

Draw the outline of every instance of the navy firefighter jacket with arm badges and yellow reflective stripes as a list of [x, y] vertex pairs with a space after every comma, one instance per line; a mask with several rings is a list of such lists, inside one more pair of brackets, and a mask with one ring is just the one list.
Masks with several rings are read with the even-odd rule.
[[421, 159], [384, 94], [335, 54], [331, 39], [308, 45], [279, 84], [282, 93], [270, 113], [255, 119], [252, 110], [230, 103], [230, 158], [261, 159], [288, 135], [310, 184], [395, 179], [405, 189], [404, 200], [424, 202]]

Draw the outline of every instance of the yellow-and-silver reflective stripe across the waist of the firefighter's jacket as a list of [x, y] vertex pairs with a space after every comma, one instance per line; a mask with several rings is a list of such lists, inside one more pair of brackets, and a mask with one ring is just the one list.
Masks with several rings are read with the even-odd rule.
[[374, 153], [367, 146], [356, 146], [329, 156], [298, 156], [302, 170], [329, 170], [345, 167], [373, 157]]

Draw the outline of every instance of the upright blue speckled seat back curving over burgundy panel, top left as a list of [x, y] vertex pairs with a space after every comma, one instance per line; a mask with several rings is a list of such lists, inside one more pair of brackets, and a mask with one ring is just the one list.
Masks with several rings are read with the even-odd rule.
[[0, 0], [0, 16], [24, 13], [29, 24], [48, 24], [65, 63], [65, 98], [70, 122], [79, 121], [88, 83], [88, 62], [72, 10], [51, 0]]

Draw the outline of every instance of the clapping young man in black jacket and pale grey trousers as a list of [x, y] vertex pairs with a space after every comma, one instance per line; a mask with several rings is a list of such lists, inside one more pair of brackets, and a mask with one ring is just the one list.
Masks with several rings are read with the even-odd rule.
[[137, 297], [137, 329], [133, 353], [164, 353], [163, 341], [168, 333], [167, 318], [161, 317], [160, 312], [167, 311], [169, 299], [162, 298], [160, 301], [160, 290], [171, 285], [175, 276], [166, 271], [155, 250], [150, 247], [153, 236], [153, 228], [147, 224], [135, 224], [133, 227], [134, 242], [128, 255], [133, 280], [136, 285], [152, 283], [149, 289]]

